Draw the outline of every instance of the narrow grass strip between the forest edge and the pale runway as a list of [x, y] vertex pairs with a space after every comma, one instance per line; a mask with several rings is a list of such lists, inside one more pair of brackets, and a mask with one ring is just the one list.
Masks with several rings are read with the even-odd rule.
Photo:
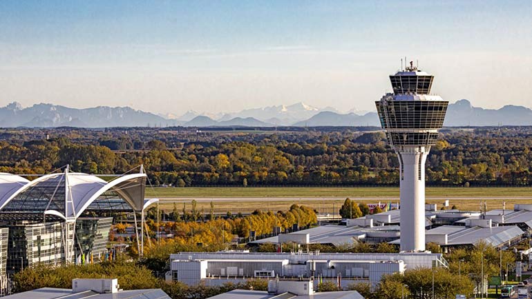
[[[146, 188], [159, 198], [352, 197], [397, 198], [399, 187], [168, 187]], [[428, 187], [427, 197], [532, 197], [532, 187]]]

